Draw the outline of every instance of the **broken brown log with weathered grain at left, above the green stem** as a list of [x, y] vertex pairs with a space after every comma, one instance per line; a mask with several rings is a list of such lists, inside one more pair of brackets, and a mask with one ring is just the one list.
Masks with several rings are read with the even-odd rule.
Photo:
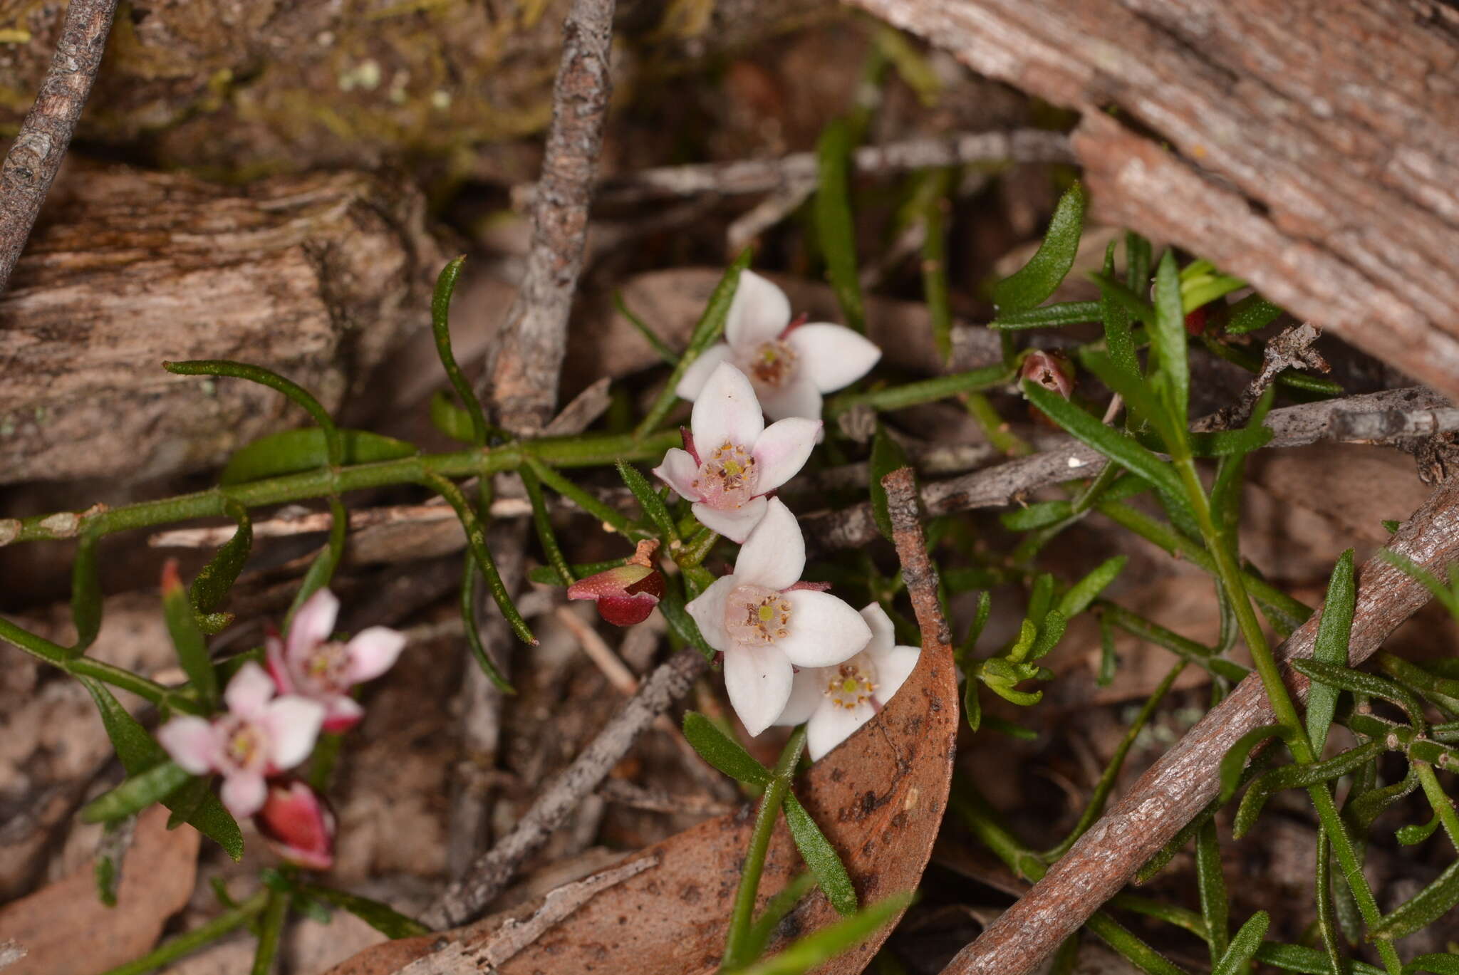
[[245, 359], [333, 409], [429, 323], [442, 257], [398, 181], [238, 191], [77, 166], [51, 197], [0, 298], [0, 483], [216, 466], [299, 415], [249, 382], [169, 375], [163, 359]]

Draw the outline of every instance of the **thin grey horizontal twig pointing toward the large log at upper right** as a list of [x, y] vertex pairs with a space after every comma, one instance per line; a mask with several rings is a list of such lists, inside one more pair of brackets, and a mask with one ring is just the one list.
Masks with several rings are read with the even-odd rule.
[[[862, 146], [852, 155], [856, 172], [906, 172], [969, 162], [1072, 162], [1068, 136], [1042, 128], [959, 133], [943, 139], [912, 139], [884, 146]], [[515, 187], [512, 201], [535, 201], [537, 185]], [[797, 194], [816, 188], [816, 153], [794, 152], [779, 159], [743, 159], [687, 166], [659, 166], [604, 181], [604, 201], [636, 203], [662, 197], [705, 193], [741, 196], [748, 193]]]

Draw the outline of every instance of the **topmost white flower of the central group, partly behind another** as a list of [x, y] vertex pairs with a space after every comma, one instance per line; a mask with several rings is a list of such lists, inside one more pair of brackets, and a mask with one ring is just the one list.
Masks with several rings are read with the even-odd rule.
[[694, 359], [674, 388], [697, 400], [722, 362], [738, 366], [772, 420], [788, 416], [820, 419], [821, 394], [851, 385], [871, 371], [881, 349], [845, 325], [791, 323], [791, 299], [754, 271], [740, 271], [725, 340]]

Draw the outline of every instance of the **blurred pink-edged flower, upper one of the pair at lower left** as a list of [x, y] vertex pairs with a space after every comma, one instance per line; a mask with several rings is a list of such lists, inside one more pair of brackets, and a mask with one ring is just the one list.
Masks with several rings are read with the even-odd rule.
[[320, 590], [299, 607], [283, 639], [270, 633], [264, 639], [268, 673], [279, 693], [293, 693], [324, 705], [324, 730], [347, 731], [365, 709], [350, 698], [350, 687], [374, 680], [395, 666], [406, 647], [406, 635], [384, 626], [371, 626], [347, 644], [331, 641], [340, 601]]

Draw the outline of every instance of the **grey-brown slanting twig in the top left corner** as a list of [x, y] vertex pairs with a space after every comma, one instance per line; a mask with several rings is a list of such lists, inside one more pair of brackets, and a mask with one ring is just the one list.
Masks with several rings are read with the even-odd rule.
[[71, 144], [115, 12], [117, 0], [71, 0], [66, 7], [51, 67], [0, 166], [0, 293]]

